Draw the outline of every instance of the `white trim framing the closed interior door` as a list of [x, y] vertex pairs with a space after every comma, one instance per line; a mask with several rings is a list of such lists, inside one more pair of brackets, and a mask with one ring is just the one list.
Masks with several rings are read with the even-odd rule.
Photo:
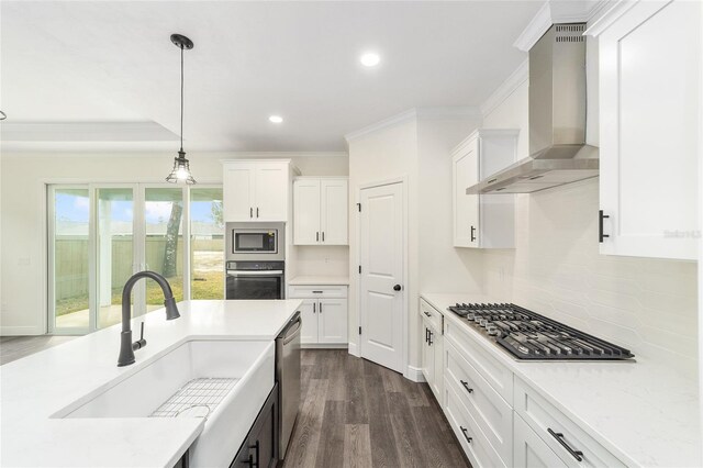
[[[359, 183], [356, 188], [356, 193], [355, 193], [355, 204], [354, 204], [354, 209], [355, 209], [355, 213], [356, 213], [356, 230], [354, 233], [354, 237], [356, 239], [356, 257], [355, 257], [355, 261], [356, 261], [356, 266], [361, 265], [361, 219], [360, 219], [360, 213], [358, 211], [358, 209], [356, 209], [358, 207], [357, 203], [361, 202], [361, 190], [364, 189], [372, 189], [375, 187], [383, 187], [383, 186], [390, 186], [390, 185], [394, 185], [394, 183], [400, 183], [402, 187], [402, 193], [403, 193], [403, 209], [402, 209], [402, 213], [403, 213], [403, 305], [402, 305], [402, 310], [403, 310], [403, 315], [402, 315], [402, 323], [403, 323], [403, 330], [402, 330], [402, 369], [403, 369], [403, 377], [405, 377], [406, 379], [410, 380], [414, 380], [415, 377], [414, 375], [416, 372], [411, 371], [411, 369], [409, 368], [409, 300], [408, 300], [408, 291], [409, 291], [409, 283], [408, 283], [408, 279], [409, 279], [409, 274], [408, 274], [408, 263], [409, 263], [409, 258], [410, 258], [410, 248], [409, 248], [409, 219], [408, 219], [408, 214], [409, 214], [409, 204], [408, 204], [408, 175], [402, 175], [402, 176], [398, 176], [398, 177], [393, 177], [393, 178], [389, 178], [389, 179], [382, 179], [382, 180], [378, 180], [378, 181], [372, 181], [372, 182], [366, 182], [366, 183]], [[355, 269], [356, 271], [356, 269]], [[356, 304], [354, 308], [354, 314], [356, 315], [356, 321], [358, 326], [361, 326], [361, 280], [360, 280], [360, 276], [358, 275], [358, 272], [356, 272]], [[359, 335], [357, 335], [357, 343], [356, 346], [353, 346], [354, 343], [349, 344], [349, 354], [357, 356], [357, 357], [361, 357], [362, 355], [362, 349], [361, 349], [361, 338]]]

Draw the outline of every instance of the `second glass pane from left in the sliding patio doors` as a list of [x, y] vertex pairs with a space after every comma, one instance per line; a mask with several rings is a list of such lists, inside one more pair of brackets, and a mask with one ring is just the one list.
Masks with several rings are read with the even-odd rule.
[[132, 276], [134, 201], [131, 188], [101, 188], [98, 203], [98, 327], [122, 321], [122, 287]]

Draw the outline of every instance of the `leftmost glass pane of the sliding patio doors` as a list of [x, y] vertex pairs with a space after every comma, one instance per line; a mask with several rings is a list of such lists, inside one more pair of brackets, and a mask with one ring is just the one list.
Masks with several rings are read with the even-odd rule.
[[56, 328], [88, 328], [88, 189], [54, 190], [54, 316]]

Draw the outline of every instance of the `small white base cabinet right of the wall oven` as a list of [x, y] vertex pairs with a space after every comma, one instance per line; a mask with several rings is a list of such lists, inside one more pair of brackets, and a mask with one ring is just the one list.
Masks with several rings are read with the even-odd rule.
[[300, 341], [303, 345], [348, 343], [346, 286], [291, 286], [291, 299], [304, 299]]

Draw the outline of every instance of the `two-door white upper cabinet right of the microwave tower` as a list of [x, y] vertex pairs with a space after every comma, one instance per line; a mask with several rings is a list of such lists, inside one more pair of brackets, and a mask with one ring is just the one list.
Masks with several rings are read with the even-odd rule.
[[348, 180], [299, 177], [293, 181], [293, 244], [348, 244]]

